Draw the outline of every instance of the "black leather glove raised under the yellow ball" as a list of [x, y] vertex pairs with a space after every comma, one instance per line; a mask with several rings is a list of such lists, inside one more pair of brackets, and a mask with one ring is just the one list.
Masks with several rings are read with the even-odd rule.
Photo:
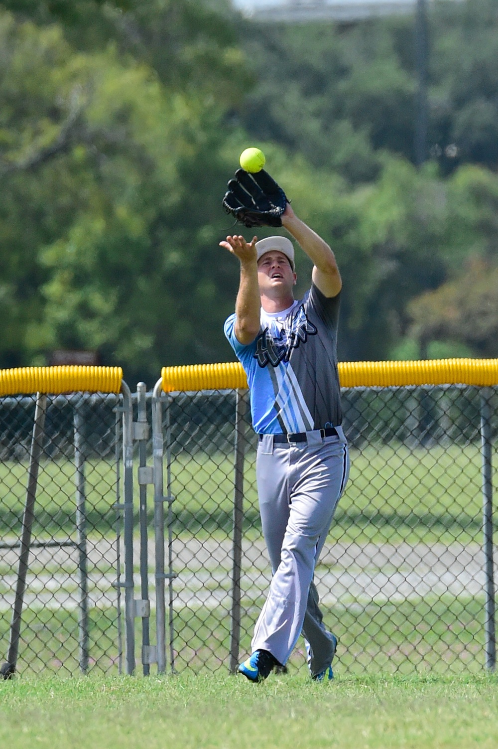
[[244, 226], [282, 226], [287, 195], [268, 172], [237, 169], [228, 182], [223, 207]]

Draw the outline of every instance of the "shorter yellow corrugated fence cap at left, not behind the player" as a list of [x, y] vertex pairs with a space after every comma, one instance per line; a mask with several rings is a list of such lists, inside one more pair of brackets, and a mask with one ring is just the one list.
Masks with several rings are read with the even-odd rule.
[[0, 369], [0, 397], [35, 392], [60, 395], [67, 392], [114, 392], [121, 390], [121, 367], [58, 366]]

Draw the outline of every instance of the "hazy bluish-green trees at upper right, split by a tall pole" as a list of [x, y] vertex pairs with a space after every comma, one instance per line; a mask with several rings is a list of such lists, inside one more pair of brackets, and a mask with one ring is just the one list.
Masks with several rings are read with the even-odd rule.
[[[498, 161], [498, 13], [494, 0], [429, 10], [428, 151], [444, 173]], [[419, 85], [413, 16], [358, 24], [249, 24], [261, 85], [241, 119], [250, 133], [297, 149], [349, 180], [377, 175], [377, 151], [413, 159]], [[344, 158], [356, 139], [362, 161]]]

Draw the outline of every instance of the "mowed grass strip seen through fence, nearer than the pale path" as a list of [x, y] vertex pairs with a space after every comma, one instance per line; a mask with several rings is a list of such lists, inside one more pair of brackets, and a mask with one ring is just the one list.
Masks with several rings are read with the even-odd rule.
[[[264, 599], [243, 599], [240, 659], [250, 652], [255, 619]], [[482, 598], [422, 598], [417, 601], [335, 605], [324, 610], [327, 628], [338, 637], [334, 671], [337, 676], [365, 673], [410, 676], [479, 674], [484, 670], [485, 633]], [[142, 673], [142, 629], [136, 619], [136, 673]], [[224, 676], [230, 663], [228, 609], [198, 606], [174, 612], [174, 669], [186, 673]], [[7, 654], [10, 612], [0, 615], [0, 655]], [[121, 631], [124, 642], [124, 620]], [[157, 641], [154, 617], [151, 642]], [[118, 622], [115, 609], [91, 609], [89, 670], [118, 674]], [[169, 643], [168, 670], [171, 668]], [[3, 662], [3, 661], [2, 661]], [[306, 674], [304, 642], [300, 638], [289, 661], [294, 677]], [[26, 608], [22, 615], [18, 671], [23, 678], [47, 673], [79, 675], [77, 611]]]

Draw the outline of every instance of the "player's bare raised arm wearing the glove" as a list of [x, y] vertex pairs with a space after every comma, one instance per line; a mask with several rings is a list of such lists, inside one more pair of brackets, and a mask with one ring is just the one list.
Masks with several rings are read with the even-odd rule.
[[314, 264], [312, 279], [325, 297], [335, 297], [341, 291], [341, 274], [330, 246], [313, 229], [298, 219], [294, 210], [287, 204], [282, 213], [282, 226], [285, 226], [306, 255]]

